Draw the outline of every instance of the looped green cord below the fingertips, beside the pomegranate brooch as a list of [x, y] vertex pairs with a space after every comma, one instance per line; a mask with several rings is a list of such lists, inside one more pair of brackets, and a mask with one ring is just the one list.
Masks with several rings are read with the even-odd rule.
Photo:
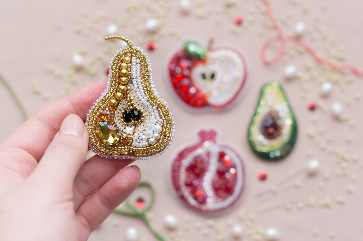
[[148, 229], [150, 230], [150, 232], [152, 232], [152, 234], [154, 234], [154, 236], [156, 238], [158, 238], [158, 240], [160, 240], [160, 241], [166, 241], [158, 232], [155, 231], [154, 228], [151, 227], [151, 224], [147, 220], [146, 215], [145, 215], [145, 213], [151, 208], [152, 204], [154, 203], [154, 200], [155, 200], [155, 189], [151, 185], [151, 183], [150, 182], [147, 182], [147, 181], [141, 181], [139, 183], [139, 186], [147, 186], [150, 189], [150, 191], [151, 191], [151, 199], [150, 199], [149, 204], [146, 207], [144, 207], [142, 210], [137, 210], [136, 207], [130, 203], [130, 198], [127, 198], [125, 202], [126, 202], [126, 206], [130, 208], [130, 211], [123, 210], [122, 208], [116, 208], [114, 210], [114, 212], [120, 213], [122, 215], [127, 215], [127, 216], [133, 216], [133, 217], [137, 217], [138, 216], [138, 217], [140, 217], [141, 220], [148, 227]]

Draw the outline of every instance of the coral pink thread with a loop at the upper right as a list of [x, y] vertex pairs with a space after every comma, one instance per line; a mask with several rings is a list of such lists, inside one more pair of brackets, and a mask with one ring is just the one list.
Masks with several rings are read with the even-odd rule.
[[[276, 18], [273, 16], [270, 3], [268, 2], [268, 0], [261, 0], [261, 1], [265, 4], [267, 14], [268, 14], [270, 20], [272, 21], [273, 25], [275, 26], [275, 29], [277, 30], [277, 33], [278, 33], [278, 37], [267, 39], [264, 42], [264, 44], [262, 45], [262, 47], [261, 47], [261, 59], [262, 59], [263, 62], [265, 62], [266, 64], [273, 64], [273, 63], [278, 62], [282, 58], [282, 56], [284, 56], [286, 42], [294, 42], [297, 45], [305, 48], [305, 50], [307, 52], [309, 52], [311, 54], [311, 56], [313, 56], [314, 59], [319, 63], [328, 65], [328, 66], [330, 66], [331, 68], [334, 68], [334, 69], [347, 69], [347, 70], [352, 71], [356, 75], [363, 76], [363, 72], [360, 71], [359, 69], [355, 68], [354, 66], [346, 65], [346, 64], [335, 64], [333, 62], [330, 62], [329, 60], [321, 58], [312, 48], [305, 45], [305, 43], [301, 42], [299, 39], [292, 38], [292, 37], [288, 37], [288, 38], [284, 37], [280, 25], [278, 25], [278, 23], [276, 21]], [[279, 50], [279, 52], [278, 52], [278, 54], [277, 54], [277, 56], [275, 58], [267, 59], [266, 55], [265, 55], [266, 54], [266, 48], [270, 45], [270, 43], [275, 42], [275, 41], [280, 41], [281, 42], [280, 50]]]

